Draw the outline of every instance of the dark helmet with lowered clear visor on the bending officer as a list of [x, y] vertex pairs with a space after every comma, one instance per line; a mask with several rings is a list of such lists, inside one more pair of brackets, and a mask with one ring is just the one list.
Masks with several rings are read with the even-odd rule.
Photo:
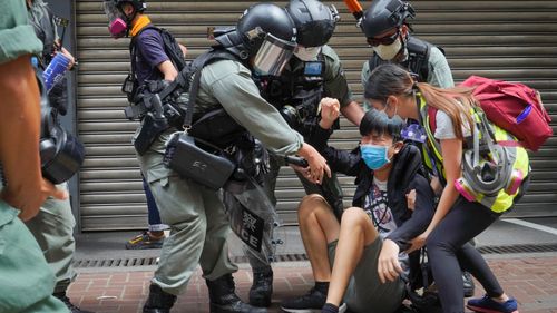
[[280, 75], [296, 47], [296, 28], [276, 4], [257, 3], [245, 10], [236, 25], [253, 68], [262, 75]]

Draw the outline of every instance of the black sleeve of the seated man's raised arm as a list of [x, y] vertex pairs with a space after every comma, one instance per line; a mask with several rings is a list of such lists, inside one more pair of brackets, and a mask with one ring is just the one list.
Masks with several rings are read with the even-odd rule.
[[331, 136], [331, 131], [319, 126], [315, 128], [309, 143], [326, 159], [331, 170], [349, 176], [358, 176], [358, 174], [360, 174], [362, 159], [358, 150], [339, 150], [328, 146], [326, 141]]

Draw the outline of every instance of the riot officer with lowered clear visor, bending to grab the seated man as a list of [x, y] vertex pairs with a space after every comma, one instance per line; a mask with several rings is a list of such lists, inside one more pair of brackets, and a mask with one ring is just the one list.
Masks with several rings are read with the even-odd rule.
[[[123, 10], [126, 12], [124, 18], [133, 13], [128, 9]], [[310, 164], [312, 178], [321, 180], [323, 174], [329, 172], [323, 157], [304, 144], [303, 137], [292, 130], [278, 111], [260, 96], [251, 77], [252, 70], [280, 74], [295, 47], [294, 36], [295, 28], [287, 13], [271, 3], [251, 7], [235, 29], [218, 36], [218, 45], [208, 52], [218, 55], [218, 58], [202, 65], [197, 95], [192, 96], [192, 91], [189, 96], [189, 101], [195, 102], [193, 110], [188, 110], [193, 114], [189, 134], [194, 134], [202, 120], [207, 120], [204, 119], [207, 114], [224, 111], [228, 117], [226, 125], [238, 126], [231, 133], [233, 136], [224, 134], [214, 138], [213, 127], [204, 128], [209, 129], [208, 134], [197, 136], [206, 135], [215, 146], [234, 146], [244, 134], [251, 134], [273, 153], [304, 157]], [[149, 125], [144, 117], [136, 141], [144, 136], [146, 127]], [[170, 226], [170, 236], [163, 245], [144, 312], [169, 312], [198, 264], [206, 278], [212, 312], [265, 312], [242, 302], [235, 293], [232, 273], [237, 267], [228, 258], [226, 238], [229, 223], [218, 193], [203, 186], [195, 177], [179, 176], [165, 166], [166, 143], [175, 131], [170, 127], [163, 130], [148, 144], [147, 150], [138, 151], [141, 172], [154, 194], [162, 221]], [[225, 137], [232, 140], [226, 144], [218, 141]], [[226, 150], [231, 149], [233, 147]]]

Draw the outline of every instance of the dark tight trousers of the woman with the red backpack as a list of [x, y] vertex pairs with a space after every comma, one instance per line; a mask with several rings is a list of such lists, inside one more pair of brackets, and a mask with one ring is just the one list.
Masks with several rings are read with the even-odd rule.
[[470, 272], [489, 296], [502, 288], [480, 253], [468, 242], [491, 225], [499, 215], [481, 204], [459, 197], [427, 241], [428, 258], [446, 313], [465, 312], [462, 274]]

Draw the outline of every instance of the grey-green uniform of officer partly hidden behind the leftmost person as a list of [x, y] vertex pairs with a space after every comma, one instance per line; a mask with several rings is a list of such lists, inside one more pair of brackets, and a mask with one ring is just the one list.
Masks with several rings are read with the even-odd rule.
[[[37, 37], [42, 41], [42, 51], [39, 53], [41, 66], [47, 67], [51, 60], [55, 41], [58, 33], [53, 16], [47, 3], [42, 0], [35, 0], [28, 10], [29, 21], [33, 26]], [[58, 84], [57, 84], [58, 85]], [[56, 86], [49, 94], [49, 101], [53, 107], [66, 107], [66, 79]], [[68, 185], [60, 184], [57, 188], [68, 190]], [[28, 228], [41, 247], [45, 258], [56, 275], [55, 293], [65, 293], [76, 273], [71, 266], [76, 242], [74, 238], [74, 227], [76, 219], [71, 213], [70, 200], [59, 200], [48, 198], [41, 206], [39, 214], [26, 222]]]

